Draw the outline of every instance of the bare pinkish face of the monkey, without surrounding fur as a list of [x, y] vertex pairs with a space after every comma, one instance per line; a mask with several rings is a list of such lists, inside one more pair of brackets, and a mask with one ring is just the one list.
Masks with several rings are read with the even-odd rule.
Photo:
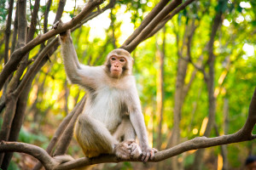
[[112, 55], [109, 59], [111, 64], [111, 67], [110, 67], [111, 76], [114, 78], [120, 77], [123, 72], [123, 67], [127, 62], [125, 57]]

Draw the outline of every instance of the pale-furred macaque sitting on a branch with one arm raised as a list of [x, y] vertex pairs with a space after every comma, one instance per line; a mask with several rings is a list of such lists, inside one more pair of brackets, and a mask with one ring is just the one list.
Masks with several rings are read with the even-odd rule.
[[[70, 31], [60, 34], [61, 54], [70, 82], [87, 90], [84, 110], [74, 135], [88, 157], [115, 154], [146, 162], [157, 151], [148, 145], [135, 78], [133, 59], [125, 49], [114, 49], [101, 66], [81, 65]], [[138, 138], [139, 144], [135, 142]]]

